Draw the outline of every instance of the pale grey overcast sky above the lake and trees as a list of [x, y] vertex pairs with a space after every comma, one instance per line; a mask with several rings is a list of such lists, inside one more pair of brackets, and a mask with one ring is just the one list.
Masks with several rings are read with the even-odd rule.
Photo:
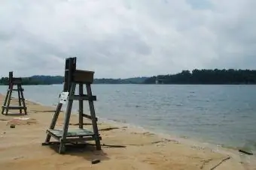
[[0, 76], [256, 67], [255, 0], [0, 0]]

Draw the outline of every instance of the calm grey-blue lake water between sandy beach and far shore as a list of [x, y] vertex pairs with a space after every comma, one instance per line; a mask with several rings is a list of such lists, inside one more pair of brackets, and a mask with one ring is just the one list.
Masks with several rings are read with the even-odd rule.
[[[62, 91], [62, 85], [23, 88], [27, 100], [47, 106], [56, 105]], [[256, 145], [256, 85], [92, 85], [92, 89], [99, 118], [226, 147]], [[6, 90], [0, 86], [0, 93]], [[78, 102], [73, 106], [77, 112]]]

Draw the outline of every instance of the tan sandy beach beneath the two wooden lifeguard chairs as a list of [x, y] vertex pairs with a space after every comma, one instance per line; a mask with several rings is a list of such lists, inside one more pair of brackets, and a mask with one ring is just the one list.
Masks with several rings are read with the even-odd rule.
[[[0, 102], [3, 103], [2, 95]], [[13, 99], [12, 102], [17, 103], [17, 100]], [[144, 130], [102, 123], [100, 120], [98, 126], [102, 136], [102, 151], [96, 151], [95, 146], [87, 145], [84, 148], [67, 148], [66, 154], [58, 154], [54, 148], [41, 145], [55, 108], [31, 101], [26, 101], [26, 106], [26, 116], [0, 115], [1, 170], [256, 169], [256, 166], [252, 165], [254, 160], [247, 159], [247, 156], [241, 160], [238, 151], [215, 151], [194, 145], [193, 142], [167, 139]], [[57, 127], [62, 127], [63, 114], [61, 112]], [[15, 121], [14, 118], [18, 117], [29, 119]], [[85, 127], [90, 129], [90, 121], [85, 123]], [[16, 127], [10, 128], [10, 124], [16, 124]], [[72, 115], [69, 127], [78, 127], [76, 124], [78, 116]], [[107, 145], [123, 147], [112, 148]], [[92, 164], [93, 159], [99, 159], [101, 162]]]

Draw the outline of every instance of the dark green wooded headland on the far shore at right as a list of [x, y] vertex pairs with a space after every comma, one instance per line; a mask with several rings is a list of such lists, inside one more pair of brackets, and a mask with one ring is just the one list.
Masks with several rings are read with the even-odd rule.
[[145, 79], [145, 84], [256, 84], [256, 70], [183, 70], [181, 73], [152, 76]]

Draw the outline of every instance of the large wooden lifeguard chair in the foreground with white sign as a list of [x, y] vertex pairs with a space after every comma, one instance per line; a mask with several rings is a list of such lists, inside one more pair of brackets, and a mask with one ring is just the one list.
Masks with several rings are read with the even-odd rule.
[[[102, 139], [99, 135], [97, 127], [97, 118], [95, 115], [95, 109], [93, 101], [96, 100], [96, 96], [93, 96], [90, 85], [93, 83], [93, 71], [87, 70], [76, 70], [76, 58], [66, 58], [65, 77], [63, 92], [69, 92], [67, 98], [67, 108], [65, 112], [65, 120], [62, 129], [54, 129], [56, 121], [59, 117], [59, 112], [62, 109], [62, 103], [58, 103], [56, 112], [53, 115], [50, 128], [47, 130], [47, 136], [45, 142], [42, 145], [51, 145], [54, 143], [59, 144], [59, 154], [64, 154], [66, 149], [65, 145], [72, 143], [73, 145], [86, 141], [95, 141], [96, 150], [101, 150], [100, 140]], [[79, 94], [75, 95], [76, 85], [79, 85]], [[84, 85], [87, 88], [87, 94], [84, 94]], [[79, 128], [69, 130], [69, 120], [72, 113], [73, 100], [79, 100]], [[90, 115], [84, 114], [83, 101], [87, 100], [90, 106]], [[83, 118], [89, 118], [92, 121], [93, 132], [83, 127]], [[58, 142], [50, 142], [50, 137], [53, 137]], [[75, 143], [75, 144], [74, 144]]]

